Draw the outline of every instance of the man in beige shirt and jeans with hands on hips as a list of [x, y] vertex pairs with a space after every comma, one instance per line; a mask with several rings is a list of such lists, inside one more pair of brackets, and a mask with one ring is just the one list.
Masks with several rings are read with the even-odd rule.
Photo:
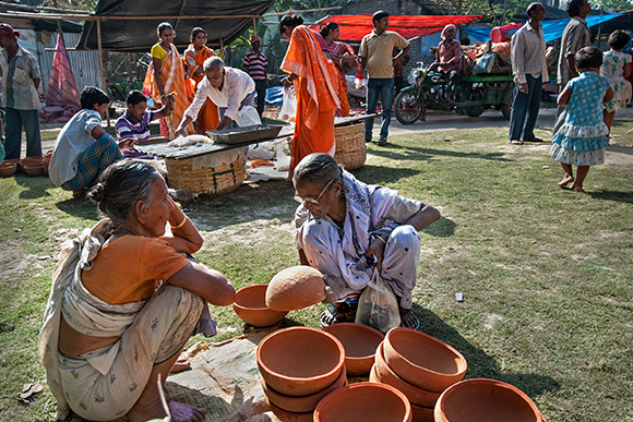
[[[360, 64], [367, 68], [369, 81], [367, 82], [367, 113], [375, 112], [378, 97], [382, 104], [382, 121], [380, 124], [380, 140], [378, 145], [386, 145], [389, 124], [391, 122], [391, 105], [393, 97], [393, 67], [408, 55], [411, 46], [399, 34], [386, 31], [389, 27], [389, 13], [381, 10], [372, 16], [374, 29], [367, 34], [360, 43], [358, 56]], [[392, 59], [394, 47], [402, 51]], [[371, 142], [373, 119], [365, 121], [365, 141]]]

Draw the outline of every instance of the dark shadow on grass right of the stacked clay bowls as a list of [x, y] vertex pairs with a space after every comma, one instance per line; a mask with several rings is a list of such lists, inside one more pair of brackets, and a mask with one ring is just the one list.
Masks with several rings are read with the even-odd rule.
[[420, 319], [420, 331], [451, 345], [464, 355], [468, 362], [465, 378], [498, 379], [514, 385], [532, 398], [560, 389], [560, 384], [550, 376], [501, 371], [492, 357], [473, 346], [433, 312], [415, 303], [413, 310]]

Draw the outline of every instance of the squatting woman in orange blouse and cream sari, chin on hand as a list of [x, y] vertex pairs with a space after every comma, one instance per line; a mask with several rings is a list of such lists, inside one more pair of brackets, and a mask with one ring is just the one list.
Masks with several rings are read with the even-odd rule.
[[[121, 160], [88, 195], [107, 217], [61, 251], [39, 336], [58, 417], [72, 409], [92, 421], [165, 418], [157, 381], [165, 385], [192, 335], [215, 334], [207, 302], [228, 306], [235, 289], [182, 255], [203, 239], [154, 167]], [[169, 408], [174, 421], [206, 412]]]

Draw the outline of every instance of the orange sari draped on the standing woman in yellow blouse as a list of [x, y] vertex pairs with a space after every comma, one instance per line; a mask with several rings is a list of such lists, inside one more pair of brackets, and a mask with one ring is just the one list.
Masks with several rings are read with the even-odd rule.
[[[188, 96], [192, 92], [192, 81], [184, 77], [184, 67], [182, 65], [182, 60], [180, 60], [180, 55], [174, 45], [171, 45], [171, 51], [167, 53], [163, 62], [160, 63], [160, 81], [163, 81], [163, 88], [165, 94], [175, 93], [176, 103], [174, 104], [174, 111], [169, 117], [165, 118], [167, 122], [167, 128], [169, 130], [168, 137], [172, 140], [174, 132], [180, 124], [182, 116], [184, 116], [184, 110], [189, 107]], [[188, 87], [187, 84], [190, 84]], [[145, 74], [145, 82], [143, 83], [143, 92], [151, 94], [156, 103], [156, 106], [160, 104], [160, 93], [158, 93], [158, 86], [156, 81], [154, 81], [154, 65], [150, 64], [147, 68], [147, 73]], [[193, 130], [193, 124], [189, 124], [186, 128], [186, 134], [191, 135], [195, 133]], [[164, 134], [164, 126], [160, 125], [160, 134]]]

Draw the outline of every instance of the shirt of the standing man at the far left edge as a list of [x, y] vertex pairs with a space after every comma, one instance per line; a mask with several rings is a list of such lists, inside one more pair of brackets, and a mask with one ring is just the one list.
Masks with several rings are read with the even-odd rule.
[[2, 84], [2, 107], [16, 110], [39, 109], [39, 96], [33, 80], [40, 79], [37, 60], [24, 48], [17, 46], [15, 57], [9, 61], [7, 49], [0, 55], [0, 76]]

